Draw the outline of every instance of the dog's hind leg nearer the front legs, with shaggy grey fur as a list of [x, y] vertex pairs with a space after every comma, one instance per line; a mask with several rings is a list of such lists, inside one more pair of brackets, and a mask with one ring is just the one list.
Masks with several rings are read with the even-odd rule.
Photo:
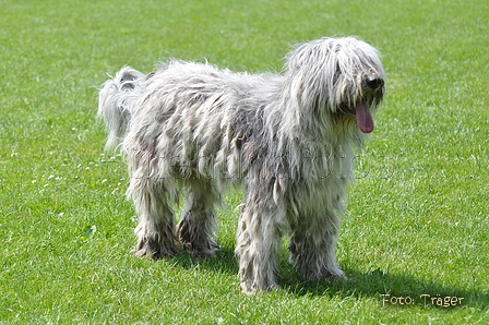
[[190, 254], [213, 257], [218, 249], [214, 205], [220, 201], [217, 189], [207, 180], [186, 181], [186, 203], [177, 226], [178, 240]]

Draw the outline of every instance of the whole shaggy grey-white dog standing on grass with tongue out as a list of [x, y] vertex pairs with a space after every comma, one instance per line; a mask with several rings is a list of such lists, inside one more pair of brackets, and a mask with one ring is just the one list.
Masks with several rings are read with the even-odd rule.
[[236, 248], [244, 292], [277, 287], [283, 234], [306, 279], [344, 277], [335, 244], [353, 148], [373, 130], [383, 94], [377, 50], [353, 37], [297, 45], [283, 74], [178, 60], [147, 75], [123, 68], [104, 84], [98, 115], [107, 146], [121, 145], [128, 160], [135, 254], [213, 256], [214, 207], [234, 184], [244, 191]]

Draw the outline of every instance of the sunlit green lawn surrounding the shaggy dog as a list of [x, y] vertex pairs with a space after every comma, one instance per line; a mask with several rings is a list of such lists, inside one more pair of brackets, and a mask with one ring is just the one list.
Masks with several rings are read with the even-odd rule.
[[[489, 322], [486, 0], [0, 4], [1, 324]], [[283, 290], [240, 293], [239, 193], [219, 215], [217, 258], [133, 257], [126, 166], [95, 119], [106, 73], [169, 56], [279, 71], [289, 44], [331, 35], [380, 48], [389, 76], [338, 243], [350, 280], [303, 281], [284, 248]]]

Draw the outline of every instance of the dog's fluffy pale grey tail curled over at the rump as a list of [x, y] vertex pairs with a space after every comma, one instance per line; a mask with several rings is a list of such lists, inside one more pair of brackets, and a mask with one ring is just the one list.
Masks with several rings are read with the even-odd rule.
[[98, 95], [98, 117], [107, 130], [106, 148], [116, 148], [124, 139], [144, 77], [143, 73], [126, 67], [103, 85]]

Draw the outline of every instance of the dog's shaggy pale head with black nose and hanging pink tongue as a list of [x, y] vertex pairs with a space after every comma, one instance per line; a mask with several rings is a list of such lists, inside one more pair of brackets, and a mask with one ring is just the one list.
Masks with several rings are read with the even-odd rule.
[[300, 110], [356, 120], [361, 132], [373, 131], [385, 74], [372, 46], [354, 37], [321, 38], [298, 45], [286, 59], [289, 99]]

